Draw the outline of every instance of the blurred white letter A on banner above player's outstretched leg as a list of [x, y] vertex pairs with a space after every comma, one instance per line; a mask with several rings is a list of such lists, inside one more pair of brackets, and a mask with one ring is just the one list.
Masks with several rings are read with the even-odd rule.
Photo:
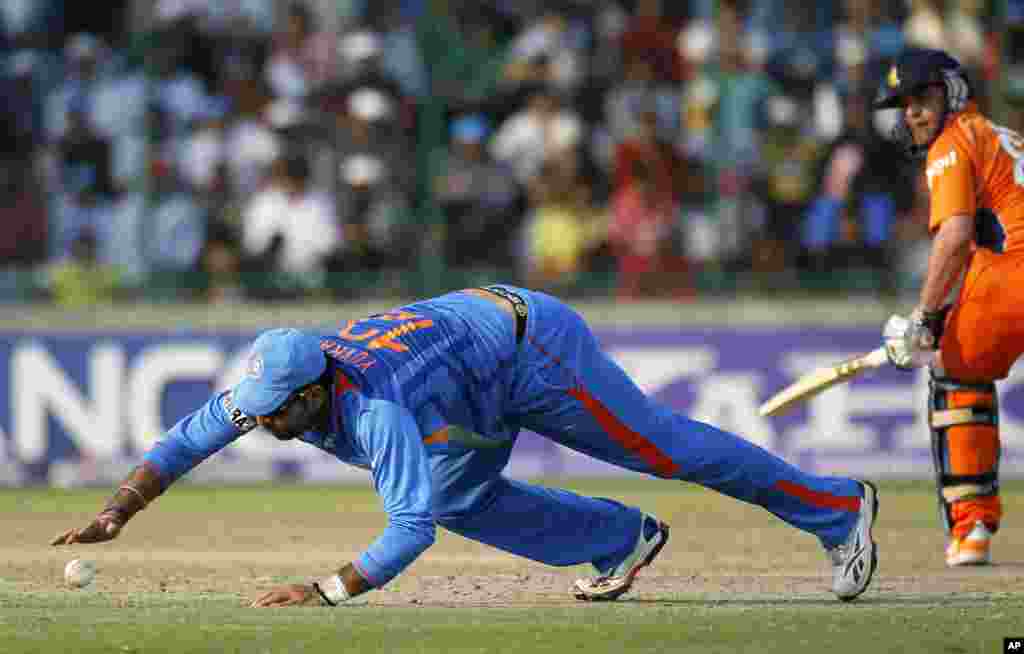
[[690, 409], [694, 420], [710, 423], [767, 449], [775, 447], [775, 430], [758, 413], [760, 384], [755, 374], [711, 375], [697, 387]]

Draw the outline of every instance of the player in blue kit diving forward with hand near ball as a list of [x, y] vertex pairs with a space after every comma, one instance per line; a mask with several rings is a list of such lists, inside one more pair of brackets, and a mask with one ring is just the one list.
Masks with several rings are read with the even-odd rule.
[[581, 600], [614, 600], [669, 527], [640, 509], [508, 479], [528, 429], [623, 468], [695, 482], [817, 536], [831, 590], [859, 596], [877, 565], [874, 487], [802, 472], [733, 434], [673, 412], [630, 380], [583, 318], [549, 295], [466, 289], [349, 320], [336, 334], [271, 330], [248, 372], [178, 422], [85, 527], [52, 544], [99, 542], [175, 480], [256, 426], [369, 469], [388, 526], [355, 560], [255, 607], [337, 605], [398, 575], [436, 526], [552, 566], [591, 563]]

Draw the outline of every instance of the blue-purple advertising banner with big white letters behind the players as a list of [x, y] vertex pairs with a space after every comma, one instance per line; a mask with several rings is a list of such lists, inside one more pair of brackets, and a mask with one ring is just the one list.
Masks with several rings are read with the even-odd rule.
[[[118, 481], [168, 427], [241, 378], [255, 334], [4, 333], [0, 484]], [[892, 368], [829, 389], [791, 415], [758, 405], [801, 374], [865, 352], [877, 330], [598, 330], [648, 393], [823, 473], [929, 478], [928, 374]], [[1024, 375], [1000, 382], [1005, 477], [1024, 461]], [[523, 434], [516, 477], [632, 474]], [[328, 454], [253, 432], [194, 471], [194, 481], [361, 479]]]

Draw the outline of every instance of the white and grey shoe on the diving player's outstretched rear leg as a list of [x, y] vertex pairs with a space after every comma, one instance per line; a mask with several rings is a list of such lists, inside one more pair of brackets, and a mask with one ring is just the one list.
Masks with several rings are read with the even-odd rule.
[[833, 565], [833, 593], [844, 602], [855, 599], [867, 588], [879, 565], [879, 547], [871, 538], [871, 527], [879, 515], [879, 491], [869, 481], [859, 483], [864, 495], [860, 499], [857, 524], [846, 542], [827, 551]]

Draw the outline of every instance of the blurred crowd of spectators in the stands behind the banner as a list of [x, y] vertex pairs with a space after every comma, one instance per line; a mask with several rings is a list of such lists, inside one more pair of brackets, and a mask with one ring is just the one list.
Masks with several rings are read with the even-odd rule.
[[69, 306], [914, 284], [879, 80], [1000, 75], [984, 0], [106, 4], [0, 0], [0, 269]]

